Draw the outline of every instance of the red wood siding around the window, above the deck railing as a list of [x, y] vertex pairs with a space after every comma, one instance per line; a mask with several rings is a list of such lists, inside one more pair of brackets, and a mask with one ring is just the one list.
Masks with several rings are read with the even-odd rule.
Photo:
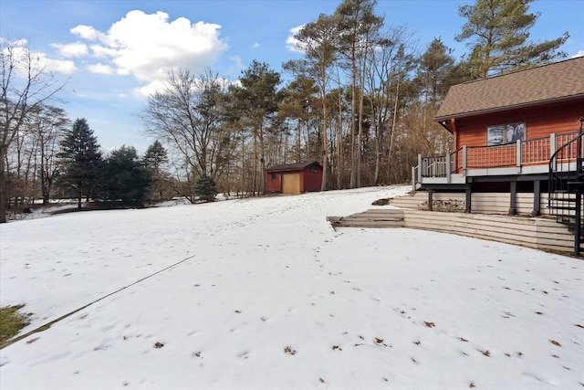
[[584, 116], [584, 100], [574, 100], [542, 107], [495, 112], [456, 120], [454, 148], [485, 146], [486, 127], [497, 124], [526, 122], [526, 139], [547, 137], [551, 133], [575, 132]]

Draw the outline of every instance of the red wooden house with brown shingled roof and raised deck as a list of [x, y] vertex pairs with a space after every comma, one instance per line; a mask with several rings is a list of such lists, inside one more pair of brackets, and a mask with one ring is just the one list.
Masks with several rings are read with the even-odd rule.
[[[454, 137], [454, 152], [419, 156], [412, 185], [428, 191], [531, 197], [535, 216], [566, 216], [581, 226], [584, 58], [572, 58], [453, 86], [435, 121]], [[547, 199], [544, 199], [546, 198]], [[578, 204], [576, 203], [578, 201]], [[543, 205], [543, 206], [542, 206]]]

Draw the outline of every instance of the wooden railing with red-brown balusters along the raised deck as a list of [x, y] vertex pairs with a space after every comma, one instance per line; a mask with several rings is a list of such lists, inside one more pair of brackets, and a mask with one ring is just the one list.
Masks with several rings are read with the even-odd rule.
[[[422, 177], [445, 177], [466, 174], [469, 169], [521, 167], [546, 165], [552, 154], [578, 136], [578, 132], [550, 134], [533, 140], [518, 140], [495, 146], [463, 146], [442, 156], [418, 156], [418, 166], [412, 168], [412, 180]], [[576, 159], [577, 146], [562, 151], [563, 159]]]

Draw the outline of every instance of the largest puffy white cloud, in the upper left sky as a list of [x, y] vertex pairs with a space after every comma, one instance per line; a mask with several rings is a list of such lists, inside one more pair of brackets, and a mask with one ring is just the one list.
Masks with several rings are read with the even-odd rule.
[[[214, 64], [227, 45], [219, 37], [221, 26], [179, 17], [169, 21], [168, 14], [145, 14], [130, 11], [114, 23], [107, 33], [92, 26], [77, 26], [73, 34], [96, 41], [90, 56], [100, 58], [89, 70], [104, 73], [106, 66], [118, 75], [132, 75], [136, 79], [156, 84], [166, 79], [173, 68], [201, 71]], [[105, 73], [105, 74], [112, 74]], [[151, 84], [142, 87], [151, 90]]]

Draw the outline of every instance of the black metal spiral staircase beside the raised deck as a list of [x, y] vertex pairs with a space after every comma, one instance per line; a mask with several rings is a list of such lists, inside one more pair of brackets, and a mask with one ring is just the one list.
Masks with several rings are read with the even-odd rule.
[[567, 225], [574, 233], [574, 256], [580, 257], [584, 242], [582, 219], [582, 195], [584, 195], [584, 153], [582, 150], [582, 122], [579, 133], [565, 143], [549, 160], [549, 182], [547, 206], [549, 214]]

